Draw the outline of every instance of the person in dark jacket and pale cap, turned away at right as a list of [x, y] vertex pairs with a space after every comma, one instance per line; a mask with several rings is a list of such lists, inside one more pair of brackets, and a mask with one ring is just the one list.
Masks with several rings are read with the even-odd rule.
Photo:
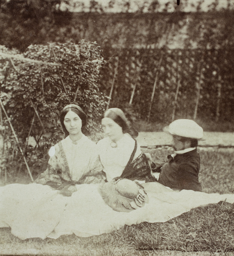
[[164, 131], [173, 137], [174, 154], [168, 156], [168, 163], [160, 166], [158, 182], [171, 189], [202, 191], [198, 180], [200, 157], [196, 147], [203, 137], [203, 129], [193, 120], [178, 119]]

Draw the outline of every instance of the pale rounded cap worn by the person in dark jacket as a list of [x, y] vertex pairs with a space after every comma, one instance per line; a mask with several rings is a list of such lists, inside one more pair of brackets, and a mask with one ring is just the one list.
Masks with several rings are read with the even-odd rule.
[[171, 135], [200, 140], [203, 137], [203, 129], [191, 119], [177, 119], [166, 126], [163, 131]]

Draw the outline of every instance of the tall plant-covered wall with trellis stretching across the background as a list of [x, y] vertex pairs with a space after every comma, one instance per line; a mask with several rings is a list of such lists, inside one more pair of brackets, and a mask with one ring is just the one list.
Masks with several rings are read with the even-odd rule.
[[219, 121], [234, 111], [234, 11], [56, 12], [51, 23], [4, 17], [0, 42], [21, 51], [32, 43], [96, 41], [106, 61], [98, 87], [109, 96], [113, 86], [110, 106], [130, 106], [136, 117]]

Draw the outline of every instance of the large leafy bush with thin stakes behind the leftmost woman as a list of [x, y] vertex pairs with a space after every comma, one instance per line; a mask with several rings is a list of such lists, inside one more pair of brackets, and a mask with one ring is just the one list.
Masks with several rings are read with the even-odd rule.
[[[1, 49], [8, 52], [4, 47]], [[35, 151], [40, 154], [36, 158], [43, 159], [48, 147], [63, 137], [59, 113], [67, 104], [78, 104], [87, 113], [84, 132], [95, 139], [106, 104], [97, 86], [104, 63], [100, 48], [84, 41], [31, 45], [21, 56], [38, 62], [14, 56], [1, 60], [1, 100], [24, 151], [29, 136], [36, 140], [36, 147], [26, 150], [29, 162], [36, 163]], [[4, 140], [10, 146], [8, 153], [13, 154], [14, 138], [5, 116], [2, 122]]]

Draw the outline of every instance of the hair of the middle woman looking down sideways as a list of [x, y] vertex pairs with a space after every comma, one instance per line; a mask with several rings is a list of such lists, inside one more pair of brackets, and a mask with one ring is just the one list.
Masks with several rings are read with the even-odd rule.
[[138, 131], [129, 125], [129, 122], [121, 109], [109, 108], [104, 112], [104, 117], [111, 118], [114, 122], [116, 122], [122, 128], [123, 133], [128, 133], [133, 138], [138, 136]]

